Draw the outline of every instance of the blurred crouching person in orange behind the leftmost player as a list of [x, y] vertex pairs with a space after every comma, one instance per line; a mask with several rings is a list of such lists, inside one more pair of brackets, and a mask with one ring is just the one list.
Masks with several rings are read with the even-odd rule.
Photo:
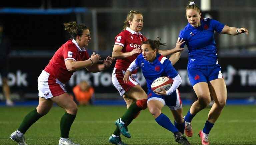
[[80, 105], [93, 104], [94, 89], [86, 81], [81, 81], [73, 88], [74, 96]]

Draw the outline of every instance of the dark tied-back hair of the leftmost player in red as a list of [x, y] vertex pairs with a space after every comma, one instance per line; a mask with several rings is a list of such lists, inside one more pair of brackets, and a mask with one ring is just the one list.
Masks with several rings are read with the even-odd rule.
[[89, 29], [84, 24], [76, 24], [75, 21], [64, 23], [65, 30], [71, 35], [73, 39], [76, 40], [76, 36], [82, 36], [83, 30]]

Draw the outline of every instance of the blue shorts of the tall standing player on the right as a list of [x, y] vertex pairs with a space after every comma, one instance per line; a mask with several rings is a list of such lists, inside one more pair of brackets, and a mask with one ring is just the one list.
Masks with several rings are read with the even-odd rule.
[[209, 82], [222, 78], [221, 67], [219, 64], [213, 65], [187, 65], [188, 78], [190, 84], [194, 86], [199, 82]]

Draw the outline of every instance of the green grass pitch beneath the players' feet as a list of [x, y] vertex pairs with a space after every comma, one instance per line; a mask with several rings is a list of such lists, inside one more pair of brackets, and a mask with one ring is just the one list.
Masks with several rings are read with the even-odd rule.
[[[15, 145], [9, 139], [10, 134], [19, 127], [23, 117], [35, 107], [0, 107], [0, 145]], [[189, 106], [183, 106], [183, 114]], [[114, 121], [121, 117], [125, 106], [80, 106], [77, 117], [71, 127], [69, 137], [81, 145], [109, 144], [108, 138], [113, 133]], [[203, 128], [209, 108], [199, 112], [192, 121], [194, 134], [188, 137], [193, 145], [201, 144], [198, 132]], [[173, 123], [168, 107], [163, 108]], [[60, 137], [60, 119], [64, 109], [53, 107], [26, 132], [29, 145], [57, 145]], [[147, 145], [178, 145], [173, 134], [158, 125], [149, 111], [141, 114], [129, 125], [131, 138], [122, 137], [123, 142]], [[221, 116], [210, 132], [211, 145], [249, 145], [256, 144], [256, 106], [225, 106]]]

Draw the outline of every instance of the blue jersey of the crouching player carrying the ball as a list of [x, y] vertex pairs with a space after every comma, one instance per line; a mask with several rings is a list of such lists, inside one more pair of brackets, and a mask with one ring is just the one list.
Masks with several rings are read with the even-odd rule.
[[151, 91], [151, 84], [155, 79], [161, 76], [175, 78], [178, 75], [178, 72], [172, 66], [171, 61], [158, 53], [152, 63], [146, 61], [142, 54], [136, 58], [135, 63], [142, 70], [143, 76], [147, 81], [148, 91]]

